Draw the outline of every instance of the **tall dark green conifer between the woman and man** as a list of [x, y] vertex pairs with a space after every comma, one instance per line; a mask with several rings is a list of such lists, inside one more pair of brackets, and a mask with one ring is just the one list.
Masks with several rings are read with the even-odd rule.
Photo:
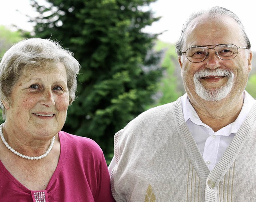
[[157, 34], [143, 32], [159, 19], [149, 9], [154, 1], [32, 0], [35, 36], [60, 40], [82, 66], [63, 130], [95, 140], [107, 162], [115, 132], [153, 102], [162, 76], [153, 51]]

